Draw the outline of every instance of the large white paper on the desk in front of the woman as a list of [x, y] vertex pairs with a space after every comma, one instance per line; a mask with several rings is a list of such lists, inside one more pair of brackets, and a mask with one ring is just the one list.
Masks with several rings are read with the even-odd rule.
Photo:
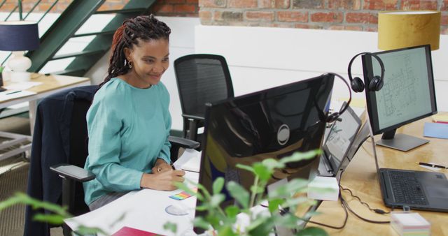
[[[186, 172], [185, 177], [197, 183], [199, 174]], [[184, 200], [169, 198], [169, 196], [181, 192], [180, 189], [175, 191], [153, 189], [133, 191], [108, 205], [104, 205], [104, 207], [66, 219], [65, 223], [73, 230], [76, 230], [80, 225], [101, 228], [108, 235], [116, 233], [125, 226], [159, 235], [174, 235], [171, 231], [163, 228], [165, 223], [171, 222], [177, 225], [177, 235], [186, 235], [193, 232], [193, 223], [191, 222], [195, 218], [196, 197], [191, 196]], [[168, 214], [165, 212], [165, 208], [169, 205], [186, 209], [188, 214], [185, 216]]]

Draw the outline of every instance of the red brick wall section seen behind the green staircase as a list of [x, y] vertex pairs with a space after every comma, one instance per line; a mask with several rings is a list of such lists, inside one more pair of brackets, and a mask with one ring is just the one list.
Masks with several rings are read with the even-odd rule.
[[[50, 10], [51, 13], [62, 13], [73, 0], [59, 0]], [[88, 0], [83, 0], [88, 1]], [[139, 0], [146, 1], [146, 0]], [[23, 12], [27, 13], [37, 0], [23, 0]], [[33, 10], [34, 13], [45, 12], [52, 6], [55, 0], [42, 0]], [[117, 10], [123, 8], [129, 0], [106, 0], [99, 10]], [[17, 6], [17, 0], [6, 0], [0, 11], [10, 12]], [[15, 10], [17, 13], [17, 10]], [[198, 0], [156, 0], [151, 7], [151, 12], [160, 16], [197, 17], [199, 14]]]

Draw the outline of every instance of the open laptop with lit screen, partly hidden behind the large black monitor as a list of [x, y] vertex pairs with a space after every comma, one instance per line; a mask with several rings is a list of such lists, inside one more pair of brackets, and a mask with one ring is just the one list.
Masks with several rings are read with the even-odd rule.
[[[345, 104], [344, 102], [342, 107]], [[318, 167], [319, 176], [339, 179], [339, 172], [345, 170], [351, 161], [351, 156], [347, 154], [359, 131], [361, 120], [350, 107], [339, 118], [342, 121], [333, 122], [323, 143], [323, 154]]]

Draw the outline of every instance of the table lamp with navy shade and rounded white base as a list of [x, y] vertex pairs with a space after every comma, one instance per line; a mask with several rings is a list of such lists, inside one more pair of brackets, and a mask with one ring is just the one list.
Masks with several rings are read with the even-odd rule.
[[0, 50], [12, 51], [13, 57], [8, 60], [11, 69], [10, 80], [27, 81], [31, 60], [24, 56], [25, 50], [36, 50], [39, 46], [38, 27], [36, 22], [8, 21], [0, 22]]

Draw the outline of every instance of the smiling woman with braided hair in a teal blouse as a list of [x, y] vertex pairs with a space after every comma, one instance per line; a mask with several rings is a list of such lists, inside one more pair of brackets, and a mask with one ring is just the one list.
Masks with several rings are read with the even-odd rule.
[[171, 191], [169, 94], [160, 78], [169, 66], [171, 29], [153, 15], [125, 20], [113, 35], [109, 71], [87, 112], [89, 156], [84, 183], [91, 210], [141, 188]]

